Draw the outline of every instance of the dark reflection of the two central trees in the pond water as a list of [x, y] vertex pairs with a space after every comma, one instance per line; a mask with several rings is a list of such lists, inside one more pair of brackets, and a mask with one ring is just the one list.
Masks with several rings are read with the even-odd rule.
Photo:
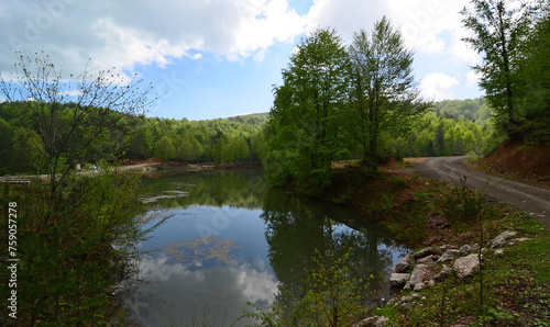
[[[365, 294], [388, 293], [387, 275], [393, 269], [393, 241], [374, 225], [360, 224], [343, 206], [298, 199], [280, 190], [270, 189], [261, 217], [266, 223], [268, 258], [284, 289], [294, 297], [302, 295], [306, 270], [315, 268], [316, 249], [324, 257], [343, 258], [349, 252], [351, 278], [369, 281]], [[353, 229], [350, 229], [351, 227]], [[280, 301], [280, 296], [278, 300]]]

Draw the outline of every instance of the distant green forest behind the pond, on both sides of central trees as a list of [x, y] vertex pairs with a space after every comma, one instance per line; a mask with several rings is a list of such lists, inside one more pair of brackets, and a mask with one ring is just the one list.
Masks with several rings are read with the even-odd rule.
[[[66, 124], [74, 104], [62, 110]], [[100, 161], [130, 162], [156, 158], [179, 162], [260, 162], [265, 151], [264, 129], [267, 113], [188, 121], [125, 116], [116, 131], [106, 131], [100, 146], [84, 158], [81, 167]], [[45, 158], [30, 135], [36, 132], [22, 126], [21, 119], [8, 103], [0, 103], [0, 173], [44, 173]], [[504, 135], [491, 121], [491, 109], [483, 98], [446, 100], [433, 103], [410, 133], [387, 140], [388, 156], [485, 155], [495, 149]], [[75, 138], [79, 142], [81, 138]], [[359, 158], [359, 155], [355, 156]], [[354, 158], [353, 155], [346, 157]], [[70, 160], [70, 155], [64, 162]], [[66, 165], [66, 164], [65, 164]]]

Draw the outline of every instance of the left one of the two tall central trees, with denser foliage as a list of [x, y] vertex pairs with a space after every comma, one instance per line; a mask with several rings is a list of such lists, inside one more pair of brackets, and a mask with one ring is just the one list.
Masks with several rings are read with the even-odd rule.
[[267, 172], [308, 192], [330, 182], [331, 161], [340, 155], [346, 53], [331, 29], [318, 29], [298, 45], [276, 87], [267, 133]]

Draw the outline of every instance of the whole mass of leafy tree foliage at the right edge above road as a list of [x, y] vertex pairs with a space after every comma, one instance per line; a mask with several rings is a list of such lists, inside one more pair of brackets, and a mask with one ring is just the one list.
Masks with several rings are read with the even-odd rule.
[[[548, 80], [548, 20], [550, 3], [542, 1], [472, 0], [464, 8], [463, 38], [483, 55], [473, 67], [480, 74], [495, 122], [509, 137], [550, 139]], [[546, 79], [544, 79], [546, 78]], [[539, 121], [539, 119], [542, 119]], [[537, 122], [539, 121], [539, 122]]]

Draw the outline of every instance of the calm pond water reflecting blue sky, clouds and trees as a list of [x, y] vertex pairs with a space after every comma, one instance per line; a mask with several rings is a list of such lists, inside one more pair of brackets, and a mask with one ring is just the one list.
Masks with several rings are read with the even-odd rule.
[[262, 171], [170, 171], [143, 183], [151, 225], [169, 218], [140, 245], [152, 250], [141, 262], [150, 282], [124, 298], [142, 326], [229, 326], [248, 302], [276, 301], [278, 286], [298, 294], [316, 249], [349, 250], [351, 273], [373, 274], [369, 290], [387, 298], [407, 251], [344, 206], [268, 188]]

